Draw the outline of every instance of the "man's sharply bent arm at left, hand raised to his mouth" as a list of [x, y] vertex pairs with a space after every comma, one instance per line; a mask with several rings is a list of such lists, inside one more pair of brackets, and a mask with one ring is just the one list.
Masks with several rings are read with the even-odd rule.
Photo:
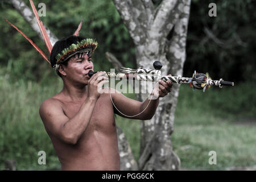
[[60, 101], [49, 98], [43, 102], [39, 113], [48, 133], [51, 133], [65, 143], [77, 143], [82, 133], [86, 130], [96, 102], [100, 97], [100, 93], [97, 91], [98, 85], [108, 82], [108, 80], [103, 80], [106, 79], [105, 77], [102, 77], [102, 80], [97, 79], [98, 76], [104, 74], [103, 72], [98, 72], [90, 78], [88, 96], [79, 111], [71, 119], [64, 114]]

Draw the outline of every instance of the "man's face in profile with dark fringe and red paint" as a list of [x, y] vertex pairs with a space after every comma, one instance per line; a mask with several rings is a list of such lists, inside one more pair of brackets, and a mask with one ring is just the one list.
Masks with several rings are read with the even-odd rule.
[[71, 57], [68, 61], [68, 65], [64, 66], [64, 71], [67, 74], [65, 78], [74, 83], [77, 82], [87, 85], [90, 79], [88, 73], [90, 70], [93, 71], [91, 59], [91, 56], [88, 56], [86, 53], [77, 53], [75, 56]]

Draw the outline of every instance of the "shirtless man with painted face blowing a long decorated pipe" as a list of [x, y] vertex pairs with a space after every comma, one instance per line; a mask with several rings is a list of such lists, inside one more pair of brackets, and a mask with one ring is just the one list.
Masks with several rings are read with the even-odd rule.
[[[67, 47], [80, 40], [81, 37], [71, 36], [57, 42], [51, 53], [52, 66], [63, 46]], [[62, 170], [119, 170], [114, 114], [123, 115], [113, 109], [108, 92], [98, 92], [98, 88], [108, 82], [108, 78], [102, 76], [105, 72], [97, 72], [89, 77], [90, 70], [93, 71], [93, 63], [88, 53], [77, 53], [65, 64], [60, 64], [58, 74], [63, 79], [63, 90], [42, 103], [40, 117], [52, 140]], [[159, 97], [166, 96], [171, 86], [171, 82], [160, 82]], [[114, 91], [114, 105], [126, 115], [138, 114], [150, 101], [131, 100]], [[147, 109], [133, 119], [151, 119], [158, 102], [159, 98], [151, 100]]]

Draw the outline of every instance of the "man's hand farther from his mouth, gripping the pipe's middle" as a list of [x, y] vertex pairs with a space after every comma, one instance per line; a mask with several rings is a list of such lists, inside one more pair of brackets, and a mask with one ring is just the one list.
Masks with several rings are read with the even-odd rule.
[[[167, 75], [167, 76], [172, 76], [172, 75]], [[171, 88], [172, 88], [171, 81], [168, 80], [164, 82], [163, 80], [160, 79], [159, 82], [155, 85], [155, 88], [151, 95], [153, 95], [153, 97], [155, 98], [164, 97], [169, 92], [171, 92]]]

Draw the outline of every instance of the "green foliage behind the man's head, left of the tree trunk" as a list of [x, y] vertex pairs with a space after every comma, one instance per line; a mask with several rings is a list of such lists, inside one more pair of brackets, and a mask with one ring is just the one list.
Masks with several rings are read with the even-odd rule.
[[[24, 2], [30, 7], [29, 1]], [[39, 2], [39, 0], [34, 0], [36, 7]], [[92, 57], [94, 68], [97, 71], [108, 71], [113, 68], [113, 65], [105, 58], [105, 52], [114, 53], [123, 65], [136, 67], [134, 44], [112, 1], [77, 0], [65, 3], [61, 1], [44, 1], [44, 3], [46, 3], [46, 17], [41, 17], [40, 19], [59, 39], [72, 35], [80, 21], [84, 21], [80, 35], [96, 39], [99, 43], [97, 51]], [[0, 10], [1, 17], [9, 19], [45, 53], [48, 52], [43, 41], [38, 38], [30, 25], [11, 6], [10, 2], [3, 2]], [[45, 72], [49, 74], [49, 67], [47, 66], [44, 69], [37, 69], [40, 65], [39, 61], [43, 59], [22, 35], [5, 21], [0, 22], [0, 28], [2, 30], [0, 36], [3, 38], [0, 42], [0, 48], [2, 49], [0, 52], [0, 65], [3, 67], [13, 65], [17, 71], [20, 69], [20, 73], [26, 72], [26, 75], [23, 74], [19, 77], [24, 80], [40, 81]], [[27, 52], [30, 53], [28, 54]], [[35, 61], [30, 61], [32, 59]], [[14, 62], [18, 60], [22, 60], [21, 63], [24, 65], [14, 65]], [[10, 63], [8, 63], [9, 61]], [[48, 63], [42, 61], [42, 64]]]

